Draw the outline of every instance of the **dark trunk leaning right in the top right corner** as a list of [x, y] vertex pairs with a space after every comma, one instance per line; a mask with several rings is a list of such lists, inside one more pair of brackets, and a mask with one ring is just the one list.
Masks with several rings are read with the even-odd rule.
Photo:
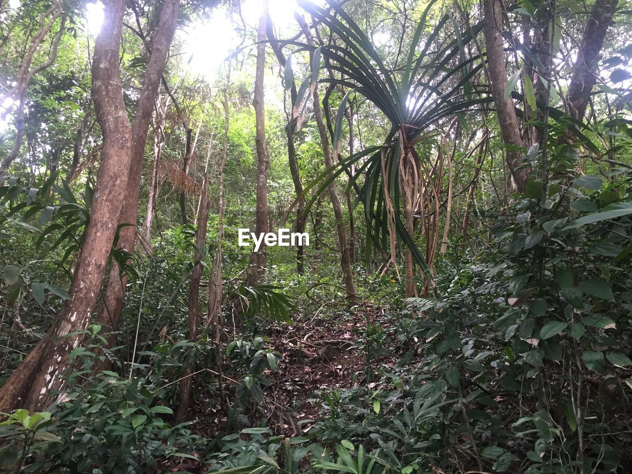
[[597, 83], [597, 56], [604, 44], [605, 33], [612, 23], [612, 15], [617, 8], [618, 0], [597, 0], [590, 18], [586, 21], [586, 29], [581, 39], [577, 60], [573, 68], [573, 76], [566, 94], [566, 104], [570, 110], [566, 112], [578, 120], [583, 120], [590, 92]]

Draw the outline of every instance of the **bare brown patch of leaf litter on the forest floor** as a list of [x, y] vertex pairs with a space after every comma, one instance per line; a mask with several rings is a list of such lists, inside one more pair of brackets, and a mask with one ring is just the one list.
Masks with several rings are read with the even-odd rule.
[[[368, 364], [360, 346], [368, 322], [375, 324], [385, 310], [361, 303], [352, 312], [337, 313], [338, 317], [316, 312], [290, 324], [270, 325], [265, 334], [269, 337], [268, 347], [281, 357], [275, 370], [265, 370], [262, 374], [271, 382], [264, 389], [265, 426], [276, 435], [305, 435], [319, 418], [321, 406], [315, 401], [316, 391], [331, 392], [367, 384], [370, 388], [371, 383], [363, 374]], [[372, 358], [371, 365], [395, 363], [386, 358], [379, 361]], [[217, 434], [226, 418], [219, 405], [209, 409], [204, 399], [197, 403], [196, 428], [200, 434]]]

